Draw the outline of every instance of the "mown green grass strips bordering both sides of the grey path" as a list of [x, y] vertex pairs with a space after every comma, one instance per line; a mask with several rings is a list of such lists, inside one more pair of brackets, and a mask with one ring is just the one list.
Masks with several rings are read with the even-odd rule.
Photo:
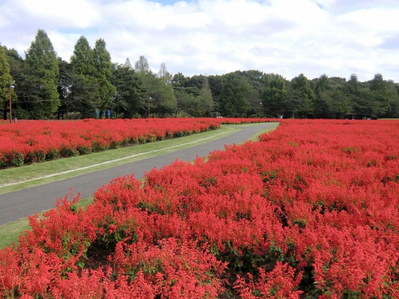
[[[62, 180], [83, 173], [106, 169], [116, 165], [145, 159], [183, 148], [197, 146], [210, 140], [232, 134], [240, 130], [240, 128], [243, 126], [253, 125], [256, 124], [222, 125], [220, 129], [215, 131], [208, 131], [177, 139], [164, 140], [121, 149], [106, 150], [102, 152], [45, 161], [42, 163], [35, 163], [21, 167], [2, 169], [0, 170], [0, 194], [49, 183], [52, 181]], [[276, 127], [277, 125], [278, 124], [276, 123]], [[268, 131], [270, 130], [260, 130], [248, 140], [256, 141], [260, 134]], [[64, 171], [70, 172], [57, 174]], [[93, 197], [81, 199], [79, 201], [79, 206], [85, 207], [86, 205], [90, 204], [92, 200]], [[42, 213], [43, 212], [39, 213], [39, 215]], [[1, 225], [0, 249], [11, 245], [12, 242], [17, 242], [20, 232], [24, 232], [28, 229], [30, 229], [30, 227], [28, 225], [27, 218], [21, 218], [16, 221]]]

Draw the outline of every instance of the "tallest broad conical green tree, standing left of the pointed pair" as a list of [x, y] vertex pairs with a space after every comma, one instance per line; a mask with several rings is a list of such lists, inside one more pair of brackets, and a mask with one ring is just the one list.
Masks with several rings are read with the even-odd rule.
[[32, 78], [28, 113], [33, 119], [53, 118], [60, 105], [59, 68], [54, 48], [44, 30], [37, 30], [35, 40], [25, 53], [25, 63]]

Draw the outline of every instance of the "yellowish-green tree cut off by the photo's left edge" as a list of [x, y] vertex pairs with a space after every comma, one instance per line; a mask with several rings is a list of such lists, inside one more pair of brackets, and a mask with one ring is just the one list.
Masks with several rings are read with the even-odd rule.
[[0, 103], [3, 108], [3, 119], [7, 119], [7, 108], [9, 109], [9, 86], [12, 84], [10, 67], [5, 54], [5, 48], [0, 45]]

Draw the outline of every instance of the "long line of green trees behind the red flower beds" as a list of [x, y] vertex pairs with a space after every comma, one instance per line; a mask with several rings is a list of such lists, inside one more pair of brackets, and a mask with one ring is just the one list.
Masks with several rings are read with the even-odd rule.
[[[10, 85], [15, 88], [10, 89]], [[360, 82], [345, 78], [292, 80], [258, 70], [224, 75], [150, 70], [145, 56], [112, 63], [104, 39], [92, 48], [81, 36], [70, 62], [57, 57], [42, 29], [22, 58], [0, 45], [0, 114], [7, 119], [270, 117], [398, 118], [399, 84], [378, 73]]]

